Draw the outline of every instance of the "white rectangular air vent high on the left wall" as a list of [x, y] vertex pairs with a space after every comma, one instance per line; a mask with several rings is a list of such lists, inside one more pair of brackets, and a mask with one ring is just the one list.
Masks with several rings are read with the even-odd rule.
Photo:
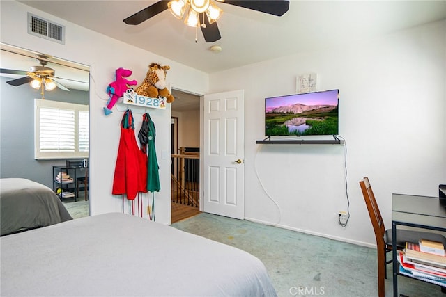
[[29, 34], [65, 44], [65, 26], [31, 13], [28, 13], [28, 25]]

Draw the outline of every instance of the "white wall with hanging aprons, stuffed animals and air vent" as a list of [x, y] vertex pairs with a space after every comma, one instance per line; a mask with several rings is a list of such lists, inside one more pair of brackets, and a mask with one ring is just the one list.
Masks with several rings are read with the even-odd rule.
[[[65, 45], [29, 35], [26, 29], [28, 12], [66, 26]], [[1, 1], [1, 42], [91, 66], [90, 203], [93, 215], [122, 209], [121, 197], [112, 195], [112, 183], [121, 133], [119, 123], [123, 113], [115, 108], [114, 113], [106, 117], [102, 111], [108, 99], [105, 90], [114, 81], [116, 68], [133, 70], [131, 78], [141, 82], [148, 64], [157, 62], [170, 65], [171, 70], [167, 72], [170, 84], [183, 86], [184, 90], [194, 93], [206, 93], [208, 89], [208, 74], [204, 72], [126, 45], [16, 1]], [[150, 110], [149, 113], [157, 129], [155, 143], [161, 182], [161, 191], [155, 193], [155, 216], [160, 223], [170, 223], [170, 109]], [[134, 116], [137, 133], [141, 127], [141, 113], [134, 110]], [[167, 154], [164, 159], [163, 154]]]

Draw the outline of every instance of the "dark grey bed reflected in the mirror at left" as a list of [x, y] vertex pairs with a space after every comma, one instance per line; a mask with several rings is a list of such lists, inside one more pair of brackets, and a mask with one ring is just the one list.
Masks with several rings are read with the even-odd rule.
[[0, 179], [1, 236], [72, 220], [50, 188], [23, 178]]

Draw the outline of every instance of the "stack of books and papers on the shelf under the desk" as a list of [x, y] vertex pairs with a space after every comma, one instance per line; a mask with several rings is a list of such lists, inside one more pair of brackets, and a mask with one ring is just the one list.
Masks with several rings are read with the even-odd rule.
[[446, 285], [446, 257], [443, 243], [420, 239], [418, 243], [406, 242], [399, 252], [399, 273], [427, 282]]

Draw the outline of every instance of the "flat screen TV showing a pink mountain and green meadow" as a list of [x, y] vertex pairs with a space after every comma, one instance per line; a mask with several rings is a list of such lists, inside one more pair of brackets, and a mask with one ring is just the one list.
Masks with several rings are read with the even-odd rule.
[[339, 90], [265, 99], [265, 136], [337, 135]]

